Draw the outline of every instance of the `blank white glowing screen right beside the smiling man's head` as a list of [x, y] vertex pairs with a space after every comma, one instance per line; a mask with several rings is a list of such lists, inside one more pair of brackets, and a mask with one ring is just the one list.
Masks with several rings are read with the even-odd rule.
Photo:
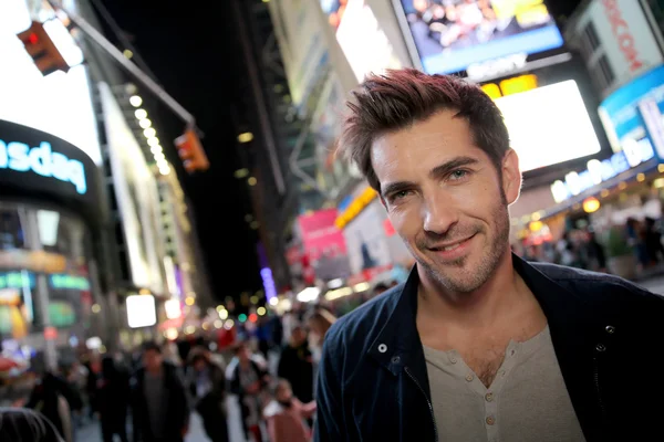
[[495, 102], [502, 112], [522, 172], [594, 155], [601, 149], [573, 80]]

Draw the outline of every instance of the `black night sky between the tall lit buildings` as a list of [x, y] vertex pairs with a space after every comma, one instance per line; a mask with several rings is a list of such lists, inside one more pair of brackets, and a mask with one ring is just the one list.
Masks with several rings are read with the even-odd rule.
[[[246, 181], [234, 177], [237, 130], [231, 120], [235, 83], [240, 75], [238, 44], [228, 35], [226, 1], [105, 0], [103, 2], [155, 73], [156, 80], [197, 118], [211, 167], [184, 176], [216, 297], [237, 296], [261, 288], [256, 263], [256, 232], [245, 215], [251, 213]], [[93, 2], [94, 4], [94, 2]], [[141, 4], [141, 8], [137, 6]], [[215, 9], [216, 8], [216, 9]], [[164, 152], [180, 164], [172, 140], [184, 129], [156, 99], [146, 98]], [[156, 120], [155, 120], [156, 119]]]

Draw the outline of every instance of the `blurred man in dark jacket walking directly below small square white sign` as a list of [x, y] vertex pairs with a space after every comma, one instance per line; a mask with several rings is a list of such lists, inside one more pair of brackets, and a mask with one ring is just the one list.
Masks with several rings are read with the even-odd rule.
[[156, 343], [143, 347], [143, 367], [132, 380], [134, 441], [181, 442], [188, 430], [187, 394], [177, 369]]

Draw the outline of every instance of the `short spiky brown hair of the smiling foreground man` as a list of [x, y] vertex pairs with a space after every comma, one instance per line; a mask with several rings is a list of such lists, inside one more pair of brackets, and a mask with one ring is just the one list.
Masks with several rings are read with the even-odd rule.
[[475, 144], [500, 172], [502, 158], [509, 150], [509, 135], [500, 109], [478, 86], [449, 75], [391, 70], [369, 75], [353, 96], [356, 103], [347, 103], [351, 112], [339, 148], [376, 191], [381, 191], [381, 183], [371, 164], [373, 141], [444, 109], [454, 109], [457, 117], [468, 122]]

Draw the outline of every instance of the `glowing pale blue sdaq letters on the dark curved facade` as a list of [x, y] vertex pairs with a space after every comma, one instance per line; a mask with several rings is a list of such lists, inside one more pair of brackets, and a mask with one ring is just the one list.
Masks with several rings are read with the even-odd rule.
[[24, 143], [6, 143], [0, 139], [0, 169], [31, 171], [42, 177], [71, 182], [80, 194], [87, 191], [83, 162], [52, 151], [51, 144], [46, 141], [30, 148]]

